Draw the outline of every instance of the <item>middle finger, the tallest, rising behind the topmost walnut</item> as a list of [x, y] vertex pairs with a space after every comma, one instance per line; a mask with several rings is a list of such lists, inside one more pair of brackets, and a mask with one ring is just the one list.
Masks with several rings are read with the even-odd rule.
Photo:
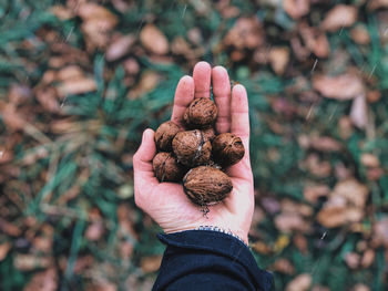
[[211, 79], [212, 67], [206, 62], [198, 62], [194, 66], [193, 71], [195, 98], [210, 98], [211, 97]]

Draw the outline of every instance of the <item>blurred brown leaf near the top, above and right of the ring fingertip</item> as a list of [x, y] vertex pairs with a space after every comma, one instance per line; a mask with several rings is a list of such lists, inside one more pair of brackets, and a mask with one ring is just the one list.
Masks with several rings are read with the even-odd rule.
[[226, 46], [256, 49], [264, 42], [262, 24], [256, 17], [239, 18], [224, 38]]

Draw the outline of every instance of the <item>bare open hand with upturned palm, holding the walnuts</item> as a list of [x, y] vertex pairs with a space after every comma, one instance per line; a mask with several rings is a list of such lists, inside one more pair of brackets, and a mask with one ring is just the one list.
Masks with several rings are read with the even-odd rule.
[[214, 101], [218, 107], [215, 128], [217, 133], [231, 132], [239, 136], [245, 156], [227, 168], [233, 191], [222, 202], [210, 206], [204, 216], [183, 191], [181, 184], [159, 183], [152, 168], [156, 154], [154, 132], [143, 133], [142, 144], [133, 157], [135, 202], [166, 233], [194, 229], [198, 226], [217, 226], [237, 235], [246, 243], [255, 207], [253, 175], [249, 162], [249, 117], [245, 87], [235, 85], [231, 92], [229, 77], [223, 66], [214, 69], [206, 62], [195, 65], [193, 77], [183, 76], [176, 87], [171, 119], [182, 124], [185, 108], [193, 98], [210, 97], [211, 83]]

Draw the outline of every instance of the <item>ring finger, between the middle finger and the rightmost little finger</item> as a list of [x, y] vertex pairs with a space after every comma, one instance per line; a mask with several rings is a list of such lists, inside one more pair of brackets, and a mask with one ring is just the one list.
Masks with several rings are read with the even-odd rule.
[[214, 101], [218, 108], [215, 129], [217, 133], [228, 133], [231, 131], [231, 82], [227, 71], [223, 66], [212, 70], [212, 85]]

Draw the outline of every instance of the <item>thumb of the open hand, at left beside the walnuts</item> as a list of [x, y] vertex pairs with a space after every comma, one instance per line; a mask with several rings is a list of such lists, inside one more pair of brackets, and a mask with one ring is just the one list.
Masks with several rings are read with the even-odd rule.
[[157, 179], [152, 168], [152, 159], [156, 154], [156, 145], [154, 141], [154, 132], [145, 129], [143, 133], [142, 144], [133, 156], [133, 174], [135, 198], [140, 198], [147, 194], [149, 189], [156, 186]]

